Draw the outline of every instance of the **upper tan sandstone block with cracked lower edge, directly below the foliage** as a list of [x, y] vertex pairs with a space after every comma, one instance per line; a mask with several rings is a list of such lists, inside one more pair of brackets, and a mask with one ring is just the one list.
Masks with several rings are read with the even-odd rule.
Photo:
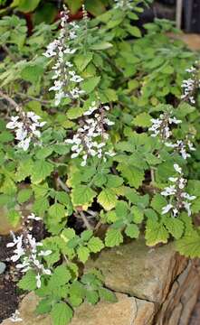
[[160, 304], [186, 264], [187, 259], [176, 253], [173, 243], [152, 249], [141, 238], [103, 250], [86, 268], [100, 269], [106, 286], [115, 292]]

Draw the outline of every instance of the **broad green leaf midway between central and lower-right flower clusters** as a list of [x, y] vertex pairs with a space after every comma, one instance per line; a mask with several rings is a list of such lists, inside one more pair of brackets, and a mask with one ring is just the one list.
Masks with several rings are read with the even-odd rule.
[[119, 163], [117, 170], [121, 172], [121, 175], [128, 181], [129, 186], [138, 189], [138, 187], [142, 185], [145, 173], [137, 167], [130, 166], [126, 163]]

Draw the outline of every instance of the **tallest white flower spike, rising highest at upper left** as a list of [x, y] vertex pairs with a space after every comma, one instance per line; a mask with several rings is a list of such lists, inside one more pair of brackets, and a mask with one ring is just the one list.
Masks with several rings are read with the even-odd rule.
[[[80, 98], [84, 91], [79, 84], [83, 80], [74, 70], [70, 55], [74, 54], [76, 49], [70, 47], [70, 42], [77, 38], [77, 30], [80, 28], [75, 22], [68, 23], [68, 11], [62, 11], [61, 31], [57, 39], [51, 42], [47, 51], [43, 55], [47, 58], [55, 58], [55, 64], [52, 66], [54, 74], [52, 79], [54, 85], [49, 88], [55, 91], [55, 105], [58, 106], [62, 98]], [[68, 56], [68, 60], [66, 59]]]

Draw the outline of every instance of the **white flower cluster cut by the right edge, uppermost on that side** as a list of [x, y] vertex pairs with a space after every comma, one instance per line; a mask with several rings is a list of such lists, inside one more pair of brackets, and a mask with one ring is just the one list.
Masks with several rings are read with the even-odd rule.
[[[198, 62], [195, 62], [197, 66]], [[191, 67], [187, 69], [186, 72], [191, 74], [191, 78], [183, 80], [182, 88], [184, 88], [184, 94], [181, 96], [183, 100], [189, 100], [191, 104], [195, 104], [195, 90], [200, 87], [200, 80], [198, 78], [197, 67]]]

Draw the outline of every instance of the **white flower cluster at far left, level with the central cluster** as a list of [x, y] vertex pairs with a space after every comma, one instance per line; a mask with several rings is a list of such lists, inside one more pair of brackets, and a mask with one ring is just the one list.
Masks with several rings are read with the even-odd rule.
[[46, 122], [41, 122], [41, 116], [33, 112], [22, 112], [20, 116], [12, 116], [11, 121], [6, 125], [8, 129], [14, 130], [15, 140], [18, 141], [18, 147], [27, 151], [31, 141], [38, 140], [41, 137], [39, 130]]

